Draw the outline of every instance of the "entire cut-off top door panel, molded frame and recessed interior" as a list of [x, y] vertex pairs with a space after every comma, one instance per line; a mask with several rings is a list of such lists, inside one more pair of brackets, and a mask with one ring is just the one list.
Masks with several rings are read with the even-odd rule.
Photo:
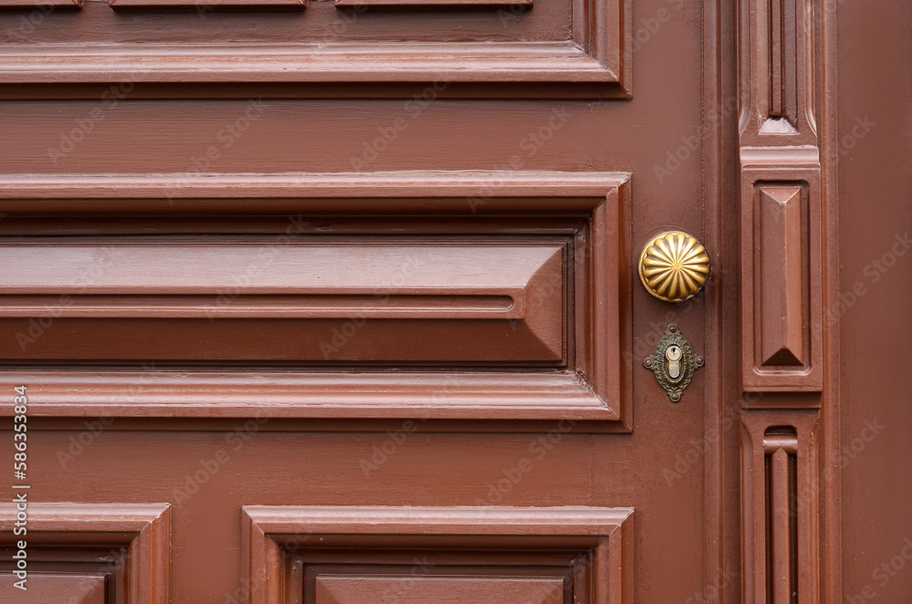
[[[19, 2], [33, 0], [0, 7]], [[123, 18], [130, 9], [143, 14]], [[23, 43], [0, 47], [0, 78], [307, 83], [294, 94], [334, 98], [627, 98], [628, 12], [625, 0], [89, 2], [78, 23], [75, 11], [53, 12]]]

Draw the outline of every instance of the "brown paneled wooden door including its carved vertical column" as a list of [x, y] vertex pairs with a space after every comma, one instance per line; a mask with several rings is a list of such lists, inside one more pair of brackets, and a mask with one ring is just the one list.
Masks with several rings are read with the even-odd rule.
[[3, 601], [838, 601], [824, 2], [51, 4]]

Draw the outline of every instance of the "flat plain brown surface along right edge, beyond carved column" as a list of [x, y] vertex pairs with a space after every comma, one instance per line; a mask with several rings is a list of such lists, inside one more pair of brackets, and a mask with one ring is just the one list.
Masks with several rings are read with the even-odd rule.
[[[839, 282], [845, 602], [912, 593], [912, 6], [846, 3], [839, 19]], [[876, 61], [873, 60], [876, 57]]]

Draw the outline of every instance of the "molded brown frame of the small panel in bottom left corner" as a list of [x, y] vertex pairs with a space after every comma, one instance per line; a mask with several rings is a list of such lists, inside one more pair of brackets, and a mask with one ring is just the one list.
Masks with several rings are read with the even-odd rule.
[[[90, 546], [120, 547], [124, 551], [116, 566], [109, 565], [100, 572], [119, 575], [111, 584], [117, 593], [123, 593], [123, 601], [171, 601], [170, 505], [35, 502], [28, 504], [27, 511], [28, 533], [22, 538], [33, 547], [41, 546], [41, 553], [36, 548], [29, 550], [30, 575], [39, 560], [42, 568], [53, 568], [56, 562], [78, 559], [80, 551]], [[0, 504], [0, 535], [5, 543], [16, 543], [20, 538], [13, 534], [15, 522], [16, 505]], [[93, 569], [92, 574], [98, 572]]]

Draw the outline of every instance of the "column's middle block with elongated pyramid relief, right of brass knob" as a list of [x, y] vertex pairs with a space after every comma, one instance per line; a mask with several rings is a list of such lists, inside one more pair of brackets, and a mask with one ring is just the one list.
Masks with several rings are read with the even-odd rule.
[[[821, 214], [816, 156], [757, 151], [741, 182], [742, 367], [746, 391], [823, 386]], [[790, 157], [784, 154], [784, 157]]]

